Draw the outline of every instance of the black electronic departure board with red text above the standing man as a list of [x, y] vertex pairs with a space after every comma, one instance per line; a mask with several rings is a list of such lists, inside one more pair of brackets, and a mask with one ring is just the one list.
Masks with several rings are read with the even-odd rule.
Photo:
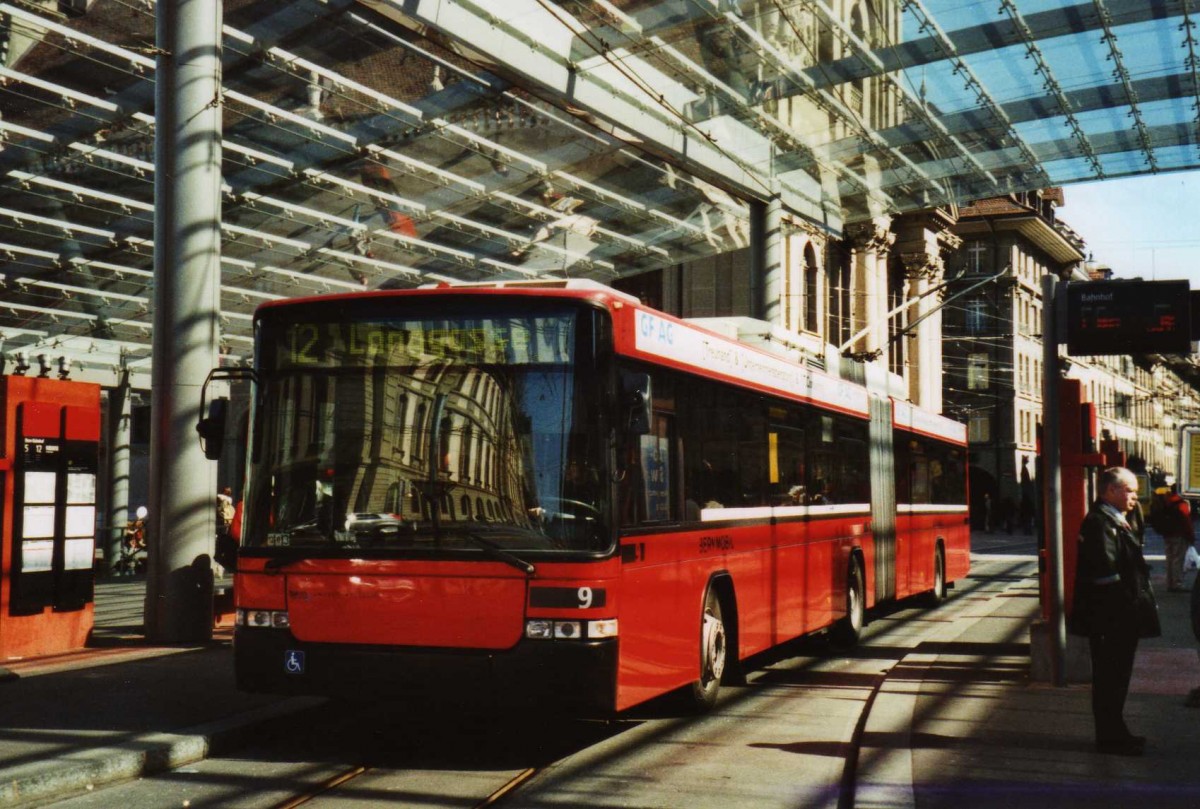
[[1067, 352], [1187, 354], [1192, 314], [1187, 281], [1076, 281], [1067, 284]]

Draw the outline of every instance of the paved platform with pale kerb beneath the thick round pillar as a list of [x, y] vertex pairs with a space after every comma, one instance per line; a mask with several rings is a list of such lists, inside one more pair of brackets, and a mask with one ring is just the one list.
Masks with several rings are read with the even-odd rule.
[[98, 581], [91, 646], [0, 666], [0, 807], [180, 767], [319, 702], [238, 691], [230, 628], [146, 643], [144, 598], [142, 577]]

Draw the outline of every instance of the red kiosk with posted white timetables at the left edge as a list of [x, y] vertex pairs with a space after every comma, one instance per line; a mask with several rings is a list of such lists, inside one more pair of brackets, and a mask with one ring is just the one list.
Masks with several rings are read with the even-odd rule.
[[0, 663], [92, 628], [100, 385], [0, 377]]

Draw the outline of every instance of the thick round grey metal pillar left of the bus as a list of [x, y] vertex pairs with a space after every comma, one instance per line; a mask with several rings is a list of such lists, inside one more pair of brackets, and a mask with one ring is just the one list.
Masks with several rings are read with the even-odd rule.
[[217, 364], [221, 257], [220, 0], [157, 5], [155, 290], [146, 637], [212, 637], [216, 467], [196, 436]]

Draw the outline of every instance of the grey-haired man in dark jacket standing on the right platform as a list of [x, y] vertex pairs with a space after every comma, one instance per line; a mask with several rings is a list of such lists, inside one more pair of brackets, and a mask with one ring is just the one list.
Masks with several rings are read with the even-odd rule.
[[1136, 756], [1146, 737], [1124, 724], [1124, 703], [1139, 637], [1162, 634], [1150, 589], [1150, 568], [1126, 515], [1138, 505], [1138, 479], [1124, 467], [1100, 473], [1100, 498], [1079, 531], [1073, 631], [1092, 651], [1092, 717], [1096, 749]]

